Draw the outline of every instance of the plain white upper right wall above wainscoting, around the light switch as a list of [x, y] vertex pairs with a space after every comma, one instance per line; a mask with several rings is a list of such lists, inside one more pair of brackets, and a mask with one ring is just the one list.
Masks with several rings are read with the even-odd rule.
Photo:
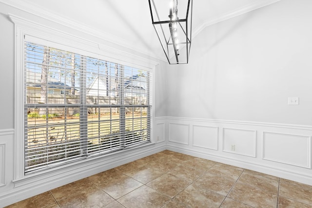
[[312, 125], [311, 11], [282, 0], [205, 28], [168, 70], [168, 115]]

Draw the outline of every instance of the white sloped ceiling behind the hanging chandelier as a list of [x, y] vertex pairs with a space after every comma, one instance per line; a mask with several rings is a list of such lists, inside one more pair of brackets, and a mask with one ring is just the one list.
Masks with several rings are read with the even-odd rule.
[[[157, 1], [157, 0], [155, 0]], [[168, 0], [160, 0], [165, 5]], [[179, 0], [183, 1], [186, 0]], [[194, 0], [192, 38], [216, 22], [278, 0]], [[0, 0], [32, 14], [166, 60], [157, 39], [148, 0]], [[17, 14], [18, 15], [18, 14]]]

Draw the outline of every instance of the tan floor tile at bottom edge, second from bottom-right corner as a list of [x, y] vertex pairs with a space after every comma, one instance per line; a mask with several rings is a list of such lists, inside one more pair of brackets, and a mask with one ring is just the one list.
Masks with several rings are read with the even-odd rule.
[[239, 182], [236, 182], [228, 197], [252, 207], [276, 208], [277, 205], [277, 194]]

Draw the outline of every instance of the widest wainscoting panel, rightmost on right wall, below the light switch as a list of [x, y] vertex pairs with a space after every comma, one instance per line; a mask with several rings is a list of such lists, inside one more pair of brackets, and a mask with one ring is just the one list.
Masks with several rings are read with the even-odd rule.
[[311, 168], [311, 136], [263, 132], [263, 159]]

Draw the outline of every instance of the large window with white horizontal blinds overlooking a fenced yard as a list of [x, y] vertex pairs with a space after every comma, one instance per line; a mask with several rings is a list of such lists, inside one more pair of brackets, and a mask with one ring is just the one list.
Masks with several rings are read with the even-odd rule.
[[33, 42], [24, 48], [25, 174], [150, 142], [149, 71]]

